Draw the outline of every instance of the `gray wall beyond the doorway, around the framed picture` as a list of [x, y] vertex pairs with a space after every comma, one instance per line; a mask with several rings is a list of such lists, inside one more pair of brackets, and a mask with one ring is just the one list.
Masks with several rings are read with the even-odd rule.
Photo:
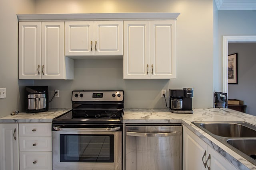
[[228, 43], [228, 54], [238, 53], [238, 84], [228, 84], [228, 98], [244, 101], [246, 113], [256, 115], [256, 43]]

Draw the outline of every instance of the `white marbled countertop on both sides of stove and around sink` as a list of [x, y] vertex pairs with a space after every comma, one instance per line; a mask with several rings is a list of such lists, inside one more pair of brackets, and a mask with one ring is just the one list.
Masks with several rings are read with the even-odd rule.
[[[51, 123], [53, 118], [69, 110], [49, 109], [49, 111], [40, 113], [18, 113], [1, 117], [0, 123]], [[255, 165], [192, 123], [192, 121], [246, 121], [256, 125], [256, 116], [231, 109], [193, 110], [193, 114], [180, 114], [171, 113], [169, 109], [125, 109], [123, 123], [182, 123], [238, 169], [256, 170]]]

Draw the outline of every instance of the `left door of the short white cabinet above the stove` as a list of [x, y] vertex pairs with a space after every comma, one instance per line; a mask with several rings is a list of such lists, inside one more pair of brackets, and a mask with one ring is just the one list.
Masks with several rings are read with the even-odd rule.
[[93, 21], [65, 22], [65, 55], [94, 55]]

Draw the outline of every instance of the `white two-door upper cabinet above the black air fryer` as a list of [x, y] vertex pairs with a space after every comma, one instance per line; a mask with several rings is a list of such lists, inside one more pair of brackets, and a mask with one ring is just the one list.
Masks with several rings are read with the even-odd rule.
[[19, 22], [19, 79], [73, 79], [64, 56], [64, 21]]

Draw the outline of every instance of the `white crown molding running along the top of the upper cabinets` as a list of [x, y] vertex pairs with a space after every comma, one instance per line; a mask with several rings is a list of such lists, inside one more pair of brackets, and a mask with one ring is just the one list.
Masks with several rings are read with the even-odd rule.
[[17, 14], [18, 21], [177, 20], [180, 13]]

